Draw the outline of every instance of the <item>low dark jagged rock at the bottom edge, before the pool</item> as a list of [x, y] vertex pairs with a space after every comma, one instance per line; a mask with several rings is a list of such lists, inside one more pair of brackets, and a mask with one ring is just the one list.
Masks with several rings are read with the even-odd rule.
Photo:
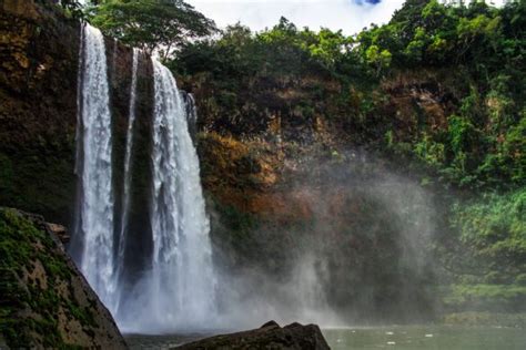
[[215, 336], [175, 349], [327, 350], [331, 348], [316, 325], [302, 326], [300, 323], [292, 323], [282, 328], [276, 322], [270, 321], [259, 329]]

